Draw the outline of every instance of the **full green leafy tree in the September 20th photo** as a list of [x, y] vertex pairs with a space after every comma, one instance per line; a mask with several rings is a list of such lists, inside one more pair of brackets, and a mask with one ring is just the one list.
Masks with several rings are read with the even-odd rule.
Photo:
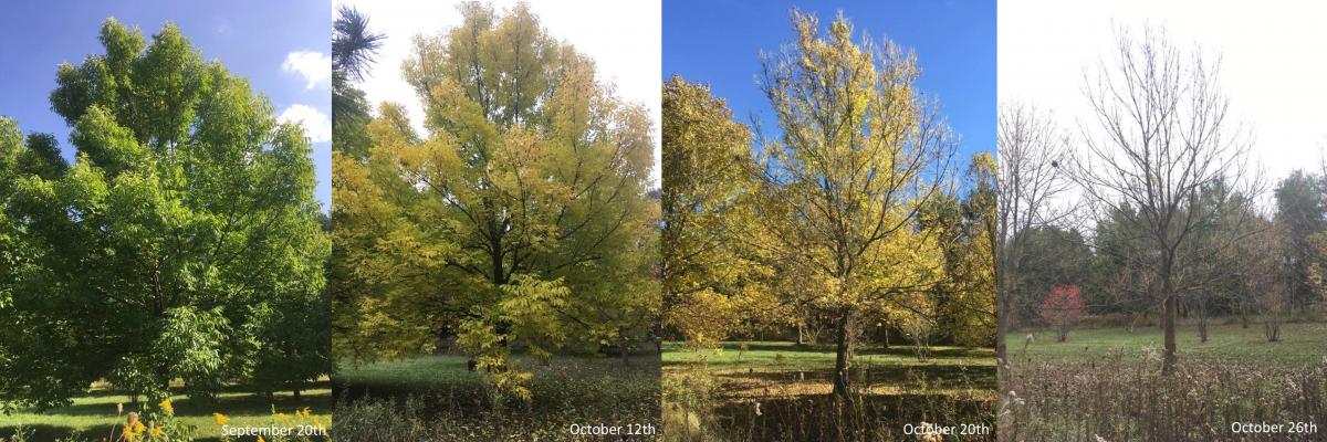
[[268, 370], [252, 362], [264, 349], [321, 356], [271, 370], [328, 373], [325, 352], [288, 346], [325, 329], [268, 341], [252, 320], [326, 313], [309, 301], [329, 244], [303, 129], [173, 24], [151, 44], [113, 19], [100, 36], [105, 53], [61, 65], [50, 94], [74, 165], [49, 137], [19, 149], [28, 166], [0, 165], [0, 256], [15, 264], [0, 280], [0, 398], [68, 404], [97, 380], [161, 397], [175, 378], [208, 397]]

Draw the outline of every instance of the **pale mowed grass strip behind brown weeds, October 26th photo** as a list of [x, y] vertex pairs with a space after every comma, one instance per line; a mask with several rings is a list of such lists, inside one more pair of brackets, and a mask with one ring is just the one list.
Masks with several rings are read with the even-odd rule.
[[[1027, 334], [1034, 340], [1027, 345]], [[1157, 327], [1075, 329], [1064, 342], [1055, 341], [1052, 331], [1014, 332], [1009, 336], [1011, 358], [1060, 358], [1087, 361], [1112, 353], [1143, 354], [1148, 348], [1161, 352], [1164, 337]], [[1223, 364], [1259, 364], [1300, 368], [1323, 364], [1327, 354], [1327, 324], [1294, 323], [1281, 327], [1281, 340], [1267, 342], [1261, 323], [1249, 328], [1237, 324], [1209, 325], [1208, 341], [1198, 338], [1192, 325], [1176, 329], [1176, 350], [1180, 358], [1196, 358]]]

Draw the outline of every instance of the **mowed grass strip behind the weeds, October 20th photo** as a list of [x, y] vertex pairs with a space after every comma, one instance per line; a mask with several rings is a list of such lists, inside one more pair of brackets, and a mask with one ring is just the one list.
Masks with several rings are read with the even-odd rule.
[[[742, 342], [701, 350], [665, 342], [664, 349], [665, 376], [703, 368], [723, 380], [727, 385], [722, 390], [734, 397], [764, 396], [771, 381], [787, 394], [827, 394], [832, 388], [833, 345], [756, 341], [747, 342], [747, 350], [742, 352]], [[868, 345], [857, 349], [855, 365], [867, 368], [864, 381], [872, 385], [871, 393], [917, 388], [994, 392], [995, 388], [994, 349], [932, 346], [922, 361], [913, 346]]]

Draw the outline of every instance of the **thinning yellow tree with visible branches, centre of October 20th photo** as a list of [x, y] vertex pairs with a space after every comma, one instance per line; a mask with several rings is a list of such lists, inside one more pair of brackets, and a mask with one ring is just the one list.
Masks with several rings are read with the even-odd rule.
[[763, 58], [782, 134], [756, 167], [756, 207], [771, 255], [811, 272], [813, 303], [832, 317], [841, 397], [863, 316], [942, 280], [940, 244], [918, 212], [942, 194], [953, 145], [914, 90], [912, 53], [855, 44], [843, 16], [824, 36], [813, 16], [794, 11], [792, 25], [796, 41]]

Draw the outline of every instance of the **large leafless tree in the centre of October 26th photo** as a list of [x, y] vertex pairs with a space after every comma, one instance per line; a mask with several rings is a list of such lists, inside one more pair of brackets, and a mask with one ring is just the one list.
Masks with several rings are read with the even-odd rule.
[[[1161, 308], [1162, 373], [1176, 361], [1178, 297], [1208, 283], [1184, 272], [1185, 265], [1239, 236], [1196, 244], [1194, 232], [1231, 195], [1255, 194], [1257, 181], [1246, 174], [1247, 137], [1229, 117], [1218, 72], [1220, 61], [1209, 62], [1197, 49], [1180, 50], [1148, 28], [1141, 40], [1119, 32], [1116, 60], [1101, 61], [1095, 77], [1085, 76], [1096, 130], [1083, 130], [1083, 155], [1071, 175], [1097, 214], [1121, 206], [1137, 210], [1144, 240], [1132, 255], [1154, 281], [1149, 291]], [[1220, 192], [1198, 204], [1212, 186]]]

